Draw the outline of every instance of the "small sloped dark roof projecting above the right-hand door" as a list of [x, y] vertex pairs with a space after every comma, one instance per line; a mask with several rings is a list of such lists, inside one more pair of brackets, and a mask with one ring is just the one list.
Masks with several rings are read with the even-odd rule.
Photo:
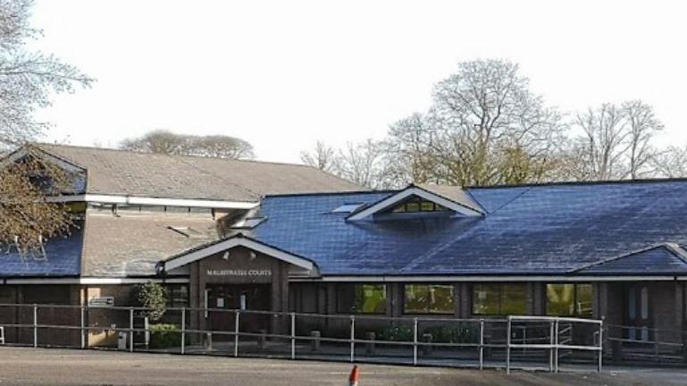
[[672, 244], [663, 244], [649, 249], [618, 256], [601, 263], [575, 271], [581, 274], [613, 275], [657, 275], [687, 274], [687, 252]]

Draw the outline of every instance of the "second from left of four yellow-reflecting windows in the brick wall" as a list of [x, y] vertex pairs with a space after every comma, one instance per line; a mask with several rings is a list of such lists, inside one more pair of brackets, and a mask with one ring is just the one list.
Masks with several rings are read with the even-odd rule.
[[453, 286], [450, 284], [406, 284], [404, 314], [453, 314]]

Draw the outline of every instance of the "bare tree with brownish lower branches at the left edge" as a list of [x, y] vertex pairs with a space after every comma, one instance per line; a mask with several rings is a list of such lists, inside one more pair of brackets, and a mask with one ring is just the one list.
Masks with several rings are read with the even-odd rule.
[[[27, 50], [40, 37], [29, 26], [31, 0], [0, 0], [0, 153], [33, 140], [48, 126], [34, 113], [50, 105], [55, 92], [72, 92], [93, 80], [53, 55]], [[43, 240], [71, 226], [67, 206], [47, 197], [71, 189], [70, 176], [44, 162], [40, 151], [25, 146], [19, 160], [0, 163], [0, 243], [21, 250], [40, 248]], [[16, 161], [16, 162], [11, 162]]]

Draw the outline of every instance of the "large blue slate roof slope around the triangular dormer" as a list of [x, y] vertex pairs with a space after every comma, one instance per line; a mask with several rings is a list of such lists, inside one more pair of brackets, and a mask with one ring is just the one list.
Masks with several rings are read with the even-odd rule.
[[[265, 197], [267, 220], [248, 236], [312, 259], [325, 275], [573, 274], [660, 243], [687, 244], [687, 180], [466, 190], [487, 214], [347, 222], [331, 210], [392, 193]], [[645, 257], [642, 274], [684, 273]]]

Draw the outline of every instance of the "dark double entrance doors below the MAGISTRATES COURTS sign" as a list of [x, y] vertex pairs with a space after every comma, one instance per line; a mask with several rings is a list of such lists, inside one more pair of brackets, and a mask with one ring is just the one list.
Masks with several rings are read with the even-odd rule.
[[[208, 325], [213, 331], [234, 331], [236, 314], [231, 310], [269, 311], [271, 305], [270, 284], [208, 285], [207, 307], [217, 308], [209, 311]], [[221, 311], [227, 310], [227, 311]], [[269, 315], [241, 313], [239, 327], [242, 332], [267, 331]], [[218, 338], [220, 335], [217, 336]], [[227, 335], [227, 337], [229, 337]]]

